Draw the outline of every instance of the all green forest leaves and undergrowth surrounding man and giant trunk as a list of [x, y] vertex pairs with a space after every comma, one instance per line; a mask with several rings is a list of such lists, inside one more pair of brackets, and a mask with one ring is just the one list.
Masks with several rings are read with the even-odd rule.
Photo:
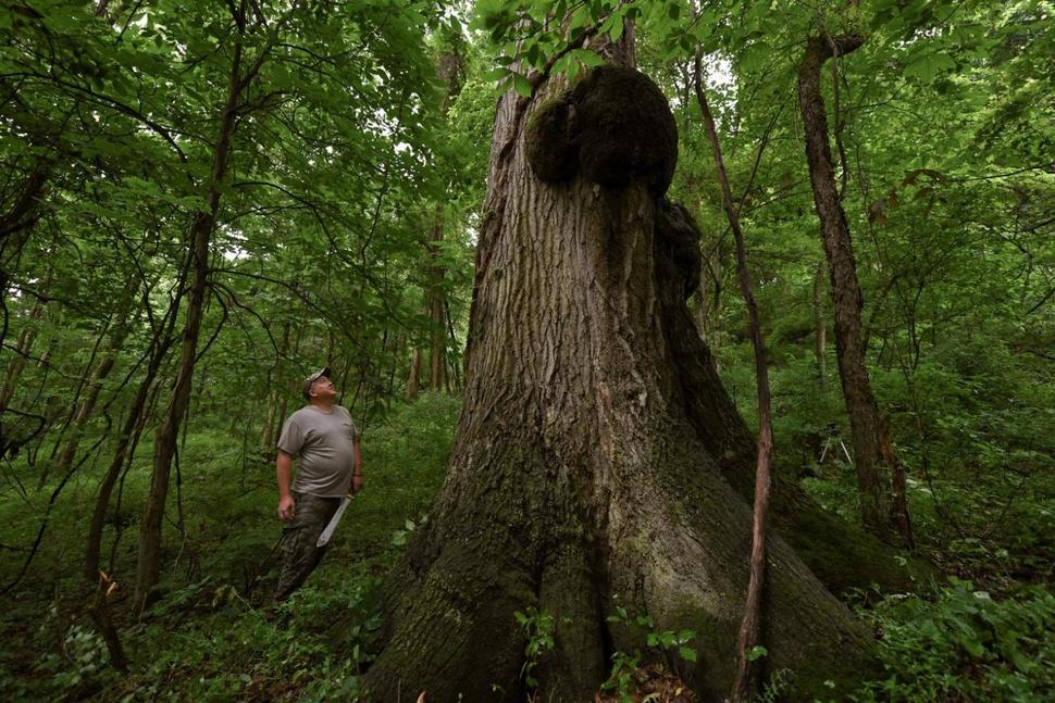
[[[438, 392], [399, 399], [412, 351], [434, 342], [437, 321], [422, 311], [437, 294], [448, 373], [461, 366], [494, 83], [526, 95], [532, 71], [575, 78], [601, 61], [576, 42], [587, 32], [618, 40], [624, 21], [675, 113], [670, 196], [705, 233], [693, 304], [754, 422], [745, 310], [692, 90], [700, 52], [757, 277], [777, 462], [787, 480], [807, 474], [807, 490], [847, 519], [857, 516], [853, 467], [841, 457], [818, 465], [829, 424], [852, 442], [824, 274], [814, 294], [823, 254], [795, 80], [809, 37], [867, 35], [822, 83], [833, 152], [845, 154], [836, 175], [869, 372], [908, 474], [920, 549], [975, 586], [954, 581], [936, 601], [888, 598], [865, 611], [891, 668], [859, 695], [1040, 700], [1053, 687], [1051, 595], [1020, 588], [1050, 578], [1055, 514], [1050, 0], [487, 0], [468, 39], [457, 13], [432, 2], [261, 2], [244, 17], [240, 3], [111, 2], [104, 16], [92, 4], [0, 7], [4, 586], [45, 528], [0, 614], [11, 633], [0, 643], [0, 698], [356, 695], [376, 576], [427, 514], [460, 407]], [[228, 170], [213, 184], [238, 37], [243, 68], [259, 60], [259, 70], [238, 105]], [[440, 57], [459, 67], [449, 84]], [[42, 186], [30, 192], [35, 179]], [[175, 380], [187, 233], [210, 206], [210, 186], [220, 201], [166, 513], [166, 594], [140, 624], [127, 594], [138, 516]], [[815, 314], [829, 332], [821, 359]], [[176, 332], [164, 331], [166, 316]], [[77, 572], [156, 335], [167, 347], [104, 533], [119, 582], [112, 607], [133, 658], [121, 677], [83, 614]], [[96, 378], [103, 362], [112, 371]], [[312, 586], [268, 610], [274, 575], [257, 569], [277, 536], [275, 428], [270, 443], [262, 429], [269, 414], [296, 407], [297, 380], [324, 363], [339, 371], [342, 402], [363, 431], [367, 490]], [[78, 423], [94, 389], [98, 402]], [[74, 461], [59, 472], [72, 439]], [[551, 646], [544, 615], [522, 614], [535, 658]], [[691, 632], [613, 617], [638, 644], [617, 652], [609, 691], [631, 695], [649, 657], [671, 669], [694, 661]], [[320, 625], [338, 622], [339, 632]]]

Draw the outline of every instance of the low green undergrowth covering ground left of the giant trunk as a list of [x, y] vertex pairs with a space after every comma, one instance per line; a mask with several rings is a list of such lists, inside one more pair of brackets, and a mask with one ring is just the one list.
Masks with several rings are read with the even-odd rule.
[[[89, 512], [82, 505], [95, 495], [94, 485], [86, 484], [79, 502], [52, 517], [55, 538], [40, 557], [62, 566], [57, 600], [49, 601], [50, 589], [27, 589], [0, 615], [0, 627], [12, 635], [0, 643], [0, 698], [50, 701], [95, 691], [100, 701], [355, 700], [373, 657], [369, 643], [380, 623], [381, 575], [398, 556], [392, 532], [408, 515], [425, 512], [435, 494], [459, 410], [457, 399], [424, 394], [414, 404], [395, 405], [384, 424], [364, 431], [367, 487], [322, 566], [278, 606], [270, 604], [275, 567], [257, 573], [280, 531], [273, 466], [249, 457], [240, 477], [233, 476], [241, 456], [229, 435], [188, 434], [181, 492], [186, 537], [171, 535], [169, 544], [181, 554], [178, 568], [166, 574], [164, 597], [138, 623], [123, 612], [136, 545], [127, 536], [115, 545], [112, 574], [119, 588], [111, 610], [131, 658], [126, 677], [109, 666], [109, 653], [78, 595], [74, 560], [84, 533], [78, 520]], [[149, 447], [144, 451], [149, 455]], [[129, 475], [126, 518], [139, 512], [145, 478]], [[36, 525], [14, 517], [25, 510], [17, 499], [0, 501], [0, 517], [25, 531], [4, 541], [32, 539]], [[13, 563], [4, 562], [5, 579]]]

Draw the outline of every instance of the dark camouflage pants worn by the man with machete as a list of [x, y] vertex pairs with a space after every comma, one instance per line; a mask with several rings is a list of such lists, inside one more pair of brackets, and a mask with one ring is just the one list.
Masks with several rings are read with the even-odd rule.
[[275, 587], [276, 602], [289, 598], [319, 566], [326, 547], [315, 547], [315, 542], [340, 505], [339, 498], [295, 492], [293, 499], [297, 503], [294, 518], [283, 527], [282, 573]]

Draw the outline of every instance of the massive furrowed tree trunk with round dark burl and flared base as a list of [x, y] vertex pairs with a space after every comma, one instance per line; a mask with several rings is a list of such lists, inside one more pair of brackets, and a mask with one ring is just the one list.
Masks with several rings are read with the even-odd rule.
[[[522, 700], [529, 606], [556, 623], [543, 700], [593, 700], [611, 653], [642, 644], [606, 622], [618, 606], [697, 633], [703, 700], [732, 683], [754, 442], [685, 305], [698, 231], [663, 198], [673, 120], [631, 68], [544, 92], [498, 105], [464, 409], [385, 587], [372, 700]], [[768, 570], [766, 666], [792, 698], [874, 670], [869, 633], [779, 537]]]

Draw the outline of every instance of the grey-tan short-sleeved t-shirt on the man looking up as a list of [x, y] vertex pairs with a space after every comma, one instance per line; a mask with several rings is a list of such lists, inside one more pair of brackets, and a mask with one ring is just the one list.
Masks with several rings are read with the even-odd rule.
[[357, 437], [351, 414], [340, 405], [334, 405], [328, 413], [307, 405], [290, 415], [282, 426], [278, 449], [300, 456], [293, 490], [327, 497], [348, 493]]

